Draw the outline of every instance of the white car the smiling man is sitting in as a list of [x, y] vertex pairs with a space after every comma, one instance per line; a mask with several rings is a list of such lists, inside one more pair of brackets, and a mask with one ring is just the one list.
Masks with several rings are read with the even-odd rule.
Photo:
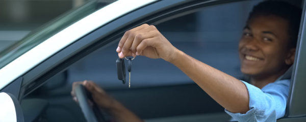
[[[175, 47], [242, 78], [238, 41], [259, 2], [90, 1], [0, 53], [0, 93], [17, 98], [22, 108], [16, 111], [18, 121], [86, 121], [86, 111], [70, 96], [71, 83], [85, 79], [145, 121], [227, 121], [230, 116], [220, 105], [163, 60], [137, 56], [128, 88], [117, 79], [115, 50], [125, 31], [153, 24]], [[295, 3], [303, 14], [286, 115], [277, 121], [306, 121], [306, 3]], [[0, 121], [8, 120], [2, 116]]]

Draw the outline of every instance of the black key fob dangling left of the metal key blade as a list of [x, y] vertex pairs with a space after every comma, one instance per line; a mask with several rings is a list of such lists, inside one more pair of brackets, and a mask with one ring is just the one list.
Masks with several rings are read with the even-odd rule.
[[118, 79], [122, 80], [122, 83], [125, 84], [125, 65], [124, 65], [124, 59], [122, 58], [118, 58], [116, 60], [116, 64], [117, 64], [117, 75], [118, 75]]

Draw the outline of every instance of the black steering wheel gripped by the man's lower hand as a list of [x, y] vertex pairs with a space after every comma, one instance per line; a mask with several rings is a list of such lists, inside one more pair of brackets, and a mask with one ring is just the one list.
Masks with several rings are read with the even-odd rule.
[[[105, 118], [97, 104], [93, 101], [91, 94], [87, 91], [87, 89], [82, 84], [77, 84], [74, 89], [75, 96], [79, 101], [79, 105], [83, 111], [83, 114], [87, 121], [92, 122], [105, 122]], [[90, 100], [93, 105], [89, 104]]]

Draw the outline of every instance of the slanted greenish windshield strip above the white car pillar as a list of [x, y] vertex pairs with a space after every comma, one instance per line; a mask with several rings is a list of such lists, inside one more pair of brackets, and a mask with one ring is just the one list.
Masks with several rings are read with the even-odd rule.
[[0, 68], [3, 68], [8, 63], [12, 62], [12, 60], [57, 34], [62, 29], [73, 24], [75, 21], [78, 21], [113, 2], [115, 2], [115, 0], [88, 1], [83, 6], [70, 10], [56, 19], [49, 21], [35, 31], [31, 32], [29, 35], [25, 36], [20, 41], [12, 44], [0, 52]]

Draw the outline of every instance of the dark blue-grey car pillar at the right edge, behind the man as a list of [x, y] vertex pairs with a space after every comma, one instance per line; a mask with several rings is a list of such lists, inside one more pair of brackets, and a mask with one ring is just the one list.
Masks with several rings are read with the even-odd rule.
[[306, 116], [306, 2], [303, 2], [299, 38], [296, 46], [295, 62], [291, 79], [290, 93], [287, 103], [287, 117]]

